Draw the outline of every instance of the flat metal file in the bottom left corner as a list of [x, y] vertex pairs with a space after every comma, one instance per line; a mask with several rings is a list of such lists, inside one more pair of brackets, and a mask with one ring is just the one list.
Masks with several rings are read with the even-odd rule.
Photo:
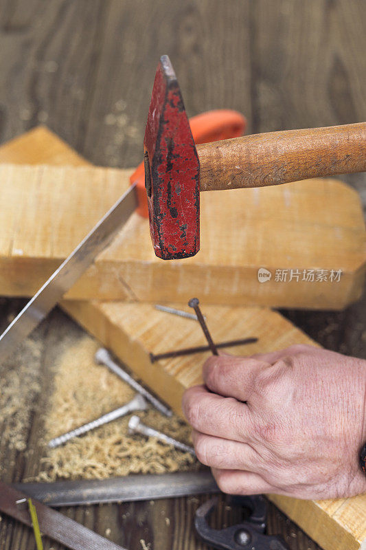
[[[16, 504], [17, 500], [26, 497], [27, 495], [17, 491], [14, 487], [0, 481], [0, 511], [28, 527], [32, 527], [29, 510]], [[36, 508], [41, 532], [64, 544], [67, 548], [71, 550], [125, 550], [118, 544], [87, 529], [84, 525], [63, 516], [60, 512], [38, 503], [36, 500], [33, 500], [33, 504]]]

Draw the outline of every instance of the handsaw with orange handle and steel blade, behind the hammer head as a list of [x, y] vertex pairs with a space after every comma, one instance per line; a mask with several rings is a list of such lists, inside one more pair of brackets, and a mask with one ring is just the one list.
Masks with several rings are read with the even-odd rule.
[[[196, 143], [241, 135], [246, 124], [246, 120], [240, 113], [227, 109], [208, 111], [190, 118]], [[137, 210], [141, 217], [148, 218], [144, 162], [131, 175], [130, 183], [130, 189], [95, 225], [1, 334], [0, 364], [24, 338], [30, 335], [62, 296], [78, 281], [95, 256], [111, 242], [117, 230], [126, 223], [134, 210]]]

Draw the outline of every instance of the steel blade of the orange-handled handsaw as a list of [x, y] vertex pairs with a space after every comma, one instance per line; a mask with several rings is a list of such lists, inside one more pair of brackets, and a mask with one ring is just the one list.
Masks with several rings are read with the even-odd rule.
[[16, 349], [91, 265], [137, 208], [136, 185], [87, 234], [0, 336], [0, 364]]

